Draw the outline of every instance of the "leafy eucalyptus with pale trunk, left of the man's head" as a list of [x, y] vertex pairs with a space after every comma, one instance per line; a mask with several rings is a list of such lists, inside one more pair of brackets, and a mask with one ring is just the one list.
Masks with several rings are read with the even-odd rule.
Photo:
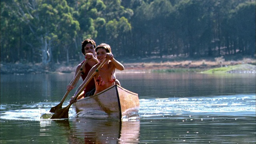
[[[36, 10], [37, 31], [42, 32], [38, 38], [42, 44], [42, 63], [47, 64], [52, 58], [52, 49], [66, 50], [66, 61], [69, 62], [69, 48], [80, 30], [79, 23], [72, 17], [72, 9], [67, 5], [66, 0], [40, 0]], [[54, 42], [54, 43], [53, 43]], [[58, 61], [58, 54], [55, 53]]]

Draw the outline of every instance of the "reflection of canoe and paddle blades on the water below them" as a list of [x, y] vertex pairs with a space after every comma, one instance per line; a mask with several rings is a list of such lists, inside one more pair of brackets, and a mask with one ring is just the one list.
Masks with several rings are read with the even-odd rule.
[[50, 127], [56, 128], [56, 132], [64, 133], [69, 144], [138, 144], [140, 136], [140, 121], [86, 118], [40, 121], [40, 132], [47, 133]]

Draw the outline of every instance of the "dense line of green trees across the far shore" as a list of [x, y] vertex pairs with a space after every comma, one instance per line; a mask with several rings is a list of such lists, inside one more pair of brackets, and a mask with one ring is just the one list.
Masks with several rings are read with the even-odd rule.
[[255, 58], [255, 0], [1, 0], [1, 62], [80, 60], [81, 42], [115, 57]]

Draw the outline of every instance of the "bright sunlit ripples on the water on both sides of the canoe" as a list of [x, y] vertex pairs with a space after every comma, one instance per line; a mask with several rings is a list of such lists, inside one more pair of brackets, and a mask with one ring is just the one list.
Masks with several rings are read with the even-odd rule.
[[[140, 99], [141, 119], [184, 118], [188, 116], [255, 116], [255, 95], [209, 96], [193, 98]], [[59, 102], [39, 102], [23, 105], [1, 104], [1, 120], [41, 120]], [[64, 102], [62, 107], [68, 105]], [[76, 112], [69, 111], [69, 116]]]

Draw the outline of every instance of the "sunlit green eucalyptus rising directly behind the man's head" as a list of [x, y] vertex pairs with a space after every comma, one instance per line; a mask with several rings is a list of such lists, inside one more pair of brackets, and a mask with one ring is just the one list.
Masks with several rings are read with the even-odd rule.
[[[80, 26], [80, 30], [77, 31], [74, 38], [75, 43], [72, 51], [75, 52], [73, 57], [79, 60], [82, 59], [80, 46], [84, 39], [92, 38], [96, 40], [98, 34], [104, 36], [101, 32], [106, 20], [102, 17], [102, 11], [106, 8], [106, 5], [102, 0], [67, 0], [67, 2], [74, 9], [72, 12], [73, 18], [79, 22]], [[96, 44], [98, 44], [97, 40]]]

